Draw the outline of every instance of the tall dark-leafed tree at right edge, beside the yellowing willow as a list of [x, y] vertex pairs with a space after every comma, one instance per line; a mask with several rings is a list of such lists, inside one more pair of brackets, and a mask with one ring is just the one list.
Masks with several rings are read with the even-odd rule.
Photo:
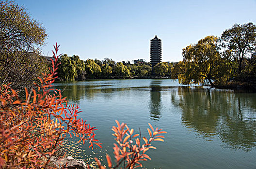
[[232, 51], [234, 61], [238, 61], [238, 74], [241, 73], [242, 61], [249, 57], [256, 50], [256, 25], [235, 24], [232, 28], [226, 29], [222, 36], [224, 47]]

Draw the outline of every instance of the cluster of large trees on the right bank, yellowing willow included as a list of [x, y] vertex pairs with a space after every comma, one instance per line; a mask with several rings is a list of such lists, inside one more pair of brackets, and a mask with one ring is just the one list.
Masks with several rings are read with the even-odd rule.
[[183, 60], [172, 70], [181, 84], [212, 87], [256, 85], [256, 25], [235, 24], [221, 37], [207, 36], [182, 50]]

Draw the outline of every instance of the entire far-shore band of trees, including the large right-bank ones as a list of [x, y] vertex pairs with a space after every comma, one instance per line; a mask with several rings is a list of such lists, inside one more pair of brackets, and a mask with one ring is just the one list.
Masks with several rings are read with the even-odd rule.
[[59, 80], [111, 78], [173, 78], [181, 84], [210, 84], [212, 87], [256, 88], [256, 25], [235, 24], [221, 37], [213, 35], [182, 50], [178, 63], [150, 62], [131, 64], [111, 58], [80, 60], [79, 56], [61, 56]]

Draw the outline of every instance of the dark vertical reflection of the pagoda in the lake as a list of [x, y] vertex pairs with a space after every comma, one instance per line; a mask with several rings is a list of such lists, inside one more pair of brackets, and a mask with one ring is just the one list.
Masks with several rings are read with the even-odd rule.
[[150, 117], [153, 120], [158, 120], [161, 117], [161, 80], [152, 80], [150, 84], [151, 102], [149, 105]]

